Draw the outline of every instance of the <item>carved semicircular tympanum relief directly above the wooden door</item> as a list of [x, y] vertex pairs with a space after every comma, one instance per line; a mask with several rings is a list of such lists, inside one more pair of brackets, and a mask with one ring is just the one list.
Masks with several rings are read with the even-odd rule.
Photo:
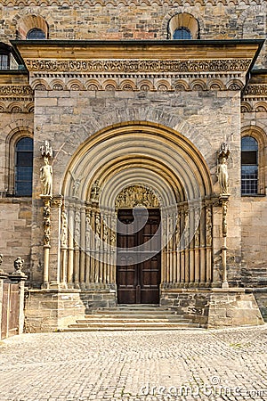
[[159, 208], [159, 202], [159, 196], [152, 189], [142, 185], [132, 185], [117, 195], [115, 205], [117, 209], [134, 208], [135, 206]]

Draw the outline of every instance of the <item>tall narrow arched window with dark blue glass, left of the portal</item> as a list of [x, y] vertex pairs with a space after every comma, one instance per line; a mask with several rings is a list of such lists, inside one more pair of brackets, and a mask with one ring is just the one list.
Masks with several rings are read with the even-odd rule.
[[33, 168], [33, 140], [21, 138], [15, 148], [15, 195], [31, 196]]

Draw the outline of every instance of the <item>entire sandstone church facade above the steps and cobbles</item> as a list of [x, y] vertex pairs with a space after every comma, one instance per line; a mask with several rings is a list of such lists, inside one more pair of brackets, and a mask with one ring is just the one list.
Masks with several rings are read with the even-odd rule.
[[125, 304], [263, 323], [266, 12], [2, 2], [0, 251], [29, 331]]

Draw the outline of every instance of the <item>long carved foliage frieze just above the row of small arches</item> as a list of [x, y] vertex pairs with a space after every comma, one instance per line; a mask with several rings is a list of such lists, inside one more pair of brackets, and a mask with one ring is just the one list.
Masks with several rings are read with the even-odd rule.
[[27, 60], [30, 71], [140, 73], [247, 71], [250, 60]]

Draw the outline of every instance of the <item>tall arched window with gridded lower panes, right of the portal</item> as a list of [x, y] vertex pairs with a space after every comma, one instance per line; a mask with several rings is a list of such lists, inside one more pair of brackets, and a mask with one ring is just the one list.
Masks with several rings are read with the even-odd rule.
[[258, 143], [253, 136], [243, 136], [241, 142], [241, 194], [258, 193]]

